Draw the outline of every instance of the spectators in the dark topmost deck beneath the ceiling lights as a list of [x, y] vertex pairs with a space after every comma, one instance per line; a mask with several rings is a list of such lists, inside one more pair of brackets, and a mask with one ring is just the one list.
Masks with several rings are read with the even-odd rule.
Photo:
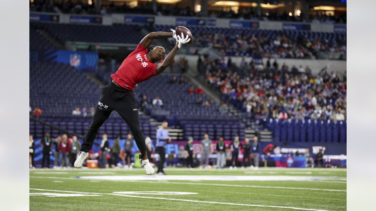
[[[73, 3], [71, 1], [61, 1], [55, 3], [54, 6], [59, 8], [63, 13], [69, 14], [112, 14], [112, 13], [130, 13], [130, 14], [155, 14], [155, 15], [173, 15], [173, 16], [196, 16], [196, 17], [205, 17], [202, 11], [194, 12], [190, 7], [178, 8], [174, 6], [165, 6], [162, 8], [161, 5], [158, 6], [157, 12], [153, 11], [152, 2], [143, 2], [139, 3], [135, 8], [130, 8], [125, 3], [123, 6], [115, 6], [114, 2], [110, 5], [105, 5], [100, 8], [100, 11], [96, 11], [95, 1], [91, 5], [84, 4], [80, 1]], [[30, 3], [30, 11], [36, 12], [55, 12], [53, 6], [49, 3], [46, 3], [45, 0], [34, 0]], [[284, 11], [281, 14], [278, 14], [276, 11], [270, 10], [259, 16], [256, 12], [255, 7], [249, 7], [246, 9], [239, 10], [238, 13], [235, 13], [233, 10], [229, 11], [210, 11], [208, 12], [208, 17], [210, 18], [233, 18], [238, 20], [272, 20], [272, 21], [299, 21], [299, 22], [310, 22], [312, 23], [344, 23], [346, 24], [346, 15], [326, 15], [324, 12], [319, 14], [317, 11], [316, 15], [310, 17], [310, 20], [306, 20], [303, 13], [299, 15], [289, 15], [288, 12]]]

